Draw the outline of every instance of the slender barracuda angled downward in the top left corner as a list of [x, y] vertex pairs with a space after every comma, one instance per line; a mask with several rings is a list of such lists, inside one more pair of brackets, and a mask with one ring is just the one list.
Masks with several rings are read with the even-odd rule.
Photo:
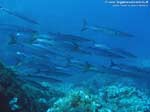
[[7, 8], [2, 7], [2, 6], [0, 6], [0, 10], [3, 11], [3, 12], [8, 13], [9, 15], [13, 15], [13, 16], [15, 16], [17, 18], [20, 18], [20, 19], [22, 19], [22, 20], [24, 20], [24, 21], [26, 21], [28, 23], [32, 23], [32, 24], [36, 24], [36, 25], [39, 24], [37, 21], [32, 20], [31, 18], [25, 17], [25, 16], [23, 16], [23, 15], [17, 13], [17, 12], [13, 12], [13, 11], [7, 9]]

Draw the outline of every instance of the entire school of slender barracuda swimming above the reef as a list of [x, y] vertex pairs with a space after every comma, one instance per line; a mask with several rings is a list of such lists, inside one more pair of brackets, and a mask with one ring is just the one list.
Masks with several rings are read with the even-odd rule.
[[[12, 12], [7, 8], [0, 7], [0, 10], [31, 24], [39, 25], [37, 21]], [[77, 74], [75, 72], [70, 73], [71, 67], [79, 69], [81, 73], [97, 72], [125, 77], [149, 77], [150, 69], [117, 61], [136, 60], [138, 59], [136, 55], [124, 49], [96, 43], [91, 38], [55, 32], [43, 34], [35, 29], [12, 24], [0, 24], [0, 30], [8, 33], [7, 42], [3, 45], [7, 49], [1, 51], [1, 57], [3, 59], [5, 55], [9, 55], [9, 58], [13, 59], [10, 66], [21, 74], [28, 74], [18, 76], [24, 77], [25, 80], [46, 79], [50, 83], [60, 83], [63, 82], [62, 78]], [[89, 30], [112, 37], [134, 37], [133, 34], [112, 28], [90, 26], [84, 20], [81, 32]], [[100, 65], [89, 60], [95, 56], [102, 57], [101, 59], [107, 58], [110, 64]]]

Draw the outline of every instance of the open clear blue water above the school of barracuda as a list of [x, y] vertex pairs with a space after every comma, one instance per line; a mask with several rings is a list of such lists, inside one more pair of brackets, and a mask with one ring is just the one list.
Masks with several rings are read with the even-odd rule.
[[[142, 57], [149, 55], [149, 7], [142, 8], [114, 8], [104, 3], [104, 1], [0, 1], [1, 5], [14, 11], [30, 16], [41, 24], [40, 29], [47, 31], [65, 32], [80, 34], [79, 30], [82, 21], [86, 18], [89, 24], [104, 25], [119, 30], [134, 33], [134, 39], [111, 39], [103, 38], [99, 34], [82, 34], [95, 38], [97, 41], [130, 48]], [[11, 18], [11, 21], [10, 21]], [[27, 25], [22, 21], [10, 17], [7, 14], [1, 15], [1, 22]], [[32, 26], [31, 26], [32, 27]], [[34, 27], [34, 26], [33, 26]], [[121, 45], [119, 44], [121, 43]]]

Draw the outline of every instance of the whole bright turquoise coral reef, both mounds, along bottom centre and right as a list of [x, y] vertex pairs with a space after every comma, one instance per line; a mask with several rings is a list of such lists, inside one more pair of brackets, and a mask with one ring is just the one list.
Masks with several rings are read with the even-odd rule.
[[106, 86], [92, 95], [71, 90], [47, 112], [149, 112], [150, 99], [133, 87]]

